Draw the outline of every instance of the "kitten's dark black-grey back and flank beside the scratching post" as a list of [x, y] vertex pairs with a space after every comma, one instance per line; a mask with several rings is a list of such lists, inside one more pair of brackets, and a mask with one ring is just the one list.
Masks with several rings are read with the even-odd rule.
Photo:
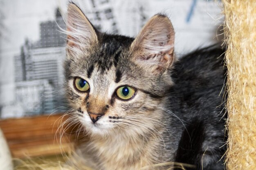
[[[175, 65], [172, 93], [179, 102], [170, 107], [179, 109], [174, 113], [186, 126], [180, 136], [177, 162], [207, 170], [223, 169], [223, 159], [219, 160], [226, 141], [224, 52], [218, 45], [209, 46], [183, 56]], [[178, 122], [175, 125], [182, 126]]]

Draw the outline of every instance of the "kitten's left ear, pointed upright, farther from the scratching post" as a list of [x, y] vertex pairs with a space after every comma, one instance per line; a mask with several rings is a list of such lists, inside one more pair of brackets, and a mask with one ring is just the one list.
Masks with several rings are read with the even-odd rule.
[[70, 3], [67, 8], [67, 56], [76, 55], [80, 51], [88, 52], [98, 43], [96, 29], [79, 7]]

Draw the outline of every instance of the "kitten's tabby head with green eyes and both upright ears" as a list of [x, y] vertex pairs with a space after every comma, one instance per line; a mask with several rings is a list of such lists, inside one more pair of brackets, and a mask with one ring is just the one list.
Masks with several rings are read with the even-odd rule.
[[153, 16], [133, 39], [97, 31], [83, 12], [67, 11], [66, 93], [91, 134], [147, 132], [163, 119], [172, 81], [174, 31]]

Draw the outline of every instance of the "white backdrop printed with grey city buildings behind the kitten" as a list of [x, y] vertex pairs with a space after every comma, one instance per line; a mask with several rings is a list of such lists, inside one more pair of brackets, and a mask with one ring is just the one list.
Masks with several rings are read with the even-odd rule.
[[[100, 31], [135, 37], [156, 13], [175, 29], [181, 56], [216, 43], [222, 4], [212, 0], [76, 0]], [[66, 0], [0, 0], [0, 118], [65, 110]]]

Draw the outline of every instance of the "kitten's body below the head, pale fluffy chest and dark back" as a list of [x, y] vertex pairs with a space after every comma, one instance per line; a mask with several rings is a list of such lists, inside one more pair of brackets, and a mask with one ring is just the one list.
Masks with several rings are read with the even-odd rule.
[[154, 110], [163, 115], [156, 122], [157, 133], [152, 130], [148, 139], [134, 137], [132, 132], [130, 136], [93, 136], [79, 146], [85, 165], [94, 162], [96, 170], [139, 170], [150, 164], [177, 161], [198, 163], [200, 168], [203, 159], [204, 169], [223, 169], [223, 159], [219, 161], [225, 153], [223, 52], [213, 46], [183, 56], [174, 64], [174, 84], [166, 91], [168, 100], [161, 107], [164, 110]]

